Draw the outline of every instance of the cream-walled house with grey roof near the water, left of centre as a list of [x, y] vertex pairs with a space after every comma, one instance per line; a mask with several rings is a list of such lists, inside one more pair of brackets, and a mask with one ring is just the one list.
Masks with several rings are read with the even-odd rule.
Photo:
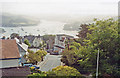
[[28, 35], [28, 36], [24, 36], [23, 41], [27, 39], [29, 41], [29, 43], [31, 44], [32, 48], [38, 48], [40, 46], [40, 43], [42, 44], [43, 40], [41, 38], [40, 35], [38, 36], [34, 36], [34, 35]]

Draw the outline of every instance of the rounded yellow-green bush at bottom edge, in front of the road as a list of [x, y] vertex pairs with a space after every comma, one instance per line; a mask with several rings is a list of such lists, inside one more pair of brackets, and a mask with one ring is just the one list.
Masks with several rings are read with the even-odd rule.
[[52, 71], [33, 73], [28, 78], [50, 77], [50, 78], [70, 78], [70, 77], [84, 78], [77, 69], [69, 66], [58, 66], [52, 69]]

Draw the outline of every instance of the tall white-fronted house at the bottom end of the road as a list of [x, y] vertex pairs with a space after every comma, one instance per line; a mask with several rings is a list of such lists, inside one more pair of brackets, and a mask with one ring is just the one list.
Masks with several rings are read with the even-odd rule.
[[57, 34], [55, 37], [54, 52], [58, 52], [58, 54], [61, 54], [65, 49], [65, 40], [70, 38], [74, 37], [65, 34]]

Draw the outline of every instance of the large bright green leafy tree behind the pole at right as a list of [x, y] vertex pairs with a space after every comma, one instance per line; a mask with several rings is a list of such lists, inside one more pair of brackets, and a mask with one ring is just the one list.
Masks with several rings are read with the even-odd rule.
[[92, 30], [84, 39], [85, 46], [80, 47], [78, 56], [80, 67], [87, 69], [91, 73], [96, 72], [96, 56], [98, 49], [100, 51], [99, 75], [109, 74], [119, 76], [118, 70], [120, 60], [120, 45], [118, 35], [118, 21], [113, 19], [95, 20], [95, 23], [88, 27]]

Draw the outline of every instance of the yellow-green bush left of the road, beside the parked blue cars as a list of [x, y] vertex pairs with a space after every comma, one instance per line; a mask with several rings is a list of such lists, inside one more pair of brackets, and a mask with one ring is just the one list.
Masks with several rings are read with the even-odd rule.
[[37, 64], [39, 61], [43, 60], [43, 57], [47, 54], [44, 50], [38, 50], [37, 52], [33, 52], [32, 50], [28, 50], [28, 54], [25, 55], [25, 58], [29, 63]]

